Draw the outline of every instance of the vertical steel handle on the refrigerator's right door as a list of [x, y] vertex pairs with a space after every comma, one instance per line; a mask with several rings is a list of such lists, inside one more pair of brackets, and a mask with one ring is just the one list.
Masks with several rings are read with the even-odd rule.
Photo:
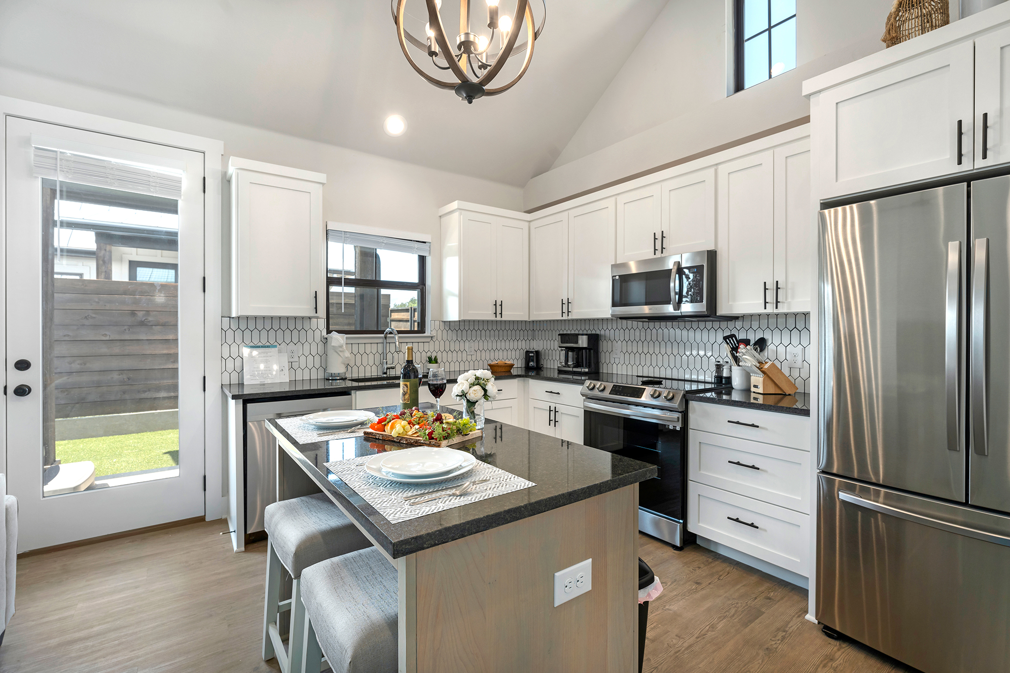
[[975, 239], [972, 277], [972, 445], [980, 456], [989, 455], [989, 409], [986, 381], [989, 316], [989, 239]]

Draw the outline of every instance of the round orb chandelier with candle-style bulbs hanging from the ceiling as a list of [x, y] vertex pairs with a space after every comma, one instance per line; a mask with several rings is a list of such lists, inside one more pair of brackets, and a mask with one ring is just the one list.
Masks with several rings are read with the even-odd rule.
[[[422, 78], [439, 89], [453, 90], [457, 96], [472, 104], [477, 98], [496, 96], [508, 91], [526, 74], [529, 62], [533, 59], [533, 42], [540, 36], [547, 18], [546, 0], [541, 0], [543, 18], [539, 27], [533, 21], [529, 0], [516, 0], [515, 11], [511, 16], [499, 14], [499, 0], [486, 0], [487, 27], [490, 29], [488, 34], [484, 34], [481, 25], [485, 18], [483, 12], [471, 12], [471, 0], [460, 0], [460, 33], [451, 43], [442, 23], [442, 0], [424, 0], [424, 2], [427, 6], [428, 22], [424, 26], [426, 38], [423, 41], [412, 35], [405, 27], [407, 0], [391, 2], [400, 48], [403, 49], [407, 63]], [[477, 14], [482, 15], [477, 16]], [[513, 22], [513, 17], [520, 19]], [[519, 33], [523, 31], [526, 33], [526, 40], [516, 46]], [[447, 71], [456, 79], [445, 81], [439, 79], [443, 77], [442, 75], [426, 72], [414, 60], [414, 55], [418, 52], [423, 54], [421, 63], [424, 63], [425, 67], [430, 69], [427, 66], [427, 60], [430, 59], [437, 71]], [[502, 72], [508, 60], [520, 53], [525, 55], [515, 78], [501, 87], [491, 87], [492, 80]]]

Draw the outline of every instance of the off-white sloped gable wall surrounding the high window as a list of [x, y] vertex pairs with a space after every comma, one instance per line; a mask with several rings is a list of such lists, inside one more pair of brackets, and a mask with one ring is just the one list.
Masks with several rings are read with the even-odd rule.
[[884, 48], [892, 0], [798, 0], [796, 70], [728, 97], [726, 5], [670, 0], [524, 209], [809, 115], [802, 82]]

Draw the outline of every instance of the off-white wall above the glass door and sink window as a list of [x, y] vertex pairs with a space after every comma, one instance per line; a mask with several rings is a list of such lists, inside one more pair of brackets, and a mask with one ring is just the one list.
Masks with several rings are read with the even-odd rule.
[[[296, 138], [244, 124], [214, 119], [165, 105], [128, 98], [28, 73], [0, 68], [0, 96], [90, 112], [224, 141], [230, 155], [324, 173], [323, 217], [373, 227], [419, 231], [439, 241], [438, 209], [457, 200], [522, 210], [517, 187], [436, 171], [344, 147]], [[228, 184], [224, 183], [227, 190]], [[221, 200], [222, 222], [229, 202]], [[432, 258], [431, 277], [441, 277]], [[208, 273], [211, 269], [208, 268]], [[440, 315], [439, 292], [432, 292], [432, 315]]]

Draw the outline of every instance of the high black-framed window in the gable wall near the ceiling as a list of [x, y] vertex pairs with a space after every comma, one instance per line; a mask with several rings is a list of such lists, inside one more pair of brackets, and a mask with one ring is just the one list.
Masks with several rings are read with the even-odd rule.
[[796, 68], [796, 0], [734, 0], [734, 90]]

